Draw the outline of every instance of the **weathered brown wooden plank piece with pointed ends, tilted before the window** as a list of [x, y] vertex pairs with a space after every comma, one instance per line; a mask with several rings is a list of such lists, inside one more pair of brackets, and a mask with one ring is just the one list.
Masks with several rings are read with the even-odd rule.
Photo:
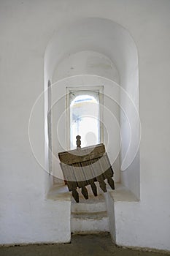
[[81, 148], [81, 137], [77, 135], [77, 149], [58, 153], [61, 161], [61, 169], [69, 191], [79, 202], [77, 187], [81, 189], [82, 195], [88, 199], [86, 186], [90, 184], [93, 195], [97, 196], [95, 182], [98, 181], [101, 189], [107, 192], [105, 180], [112, 189], [115, 189], [112, 179], [113, 170], [105, 151], [104, 144]]

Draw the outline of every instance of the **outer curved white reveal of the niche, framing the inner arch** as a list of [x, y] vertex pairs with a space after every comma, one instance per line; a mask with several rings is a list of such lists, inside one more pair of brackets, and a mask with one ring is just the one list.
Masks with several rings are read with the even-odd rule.
[[[93, 50], [104, 54], [116, 65], [120, 76], [120, 86], [128, 93], [134, 102], [136, 111], [139, 109], [139, 62], [138, 52], [131, 34], [112, 20], [104, 18], [84, 18], [75, 20], [67, 26], [56, 31], [45, 50], [45, 90], [47, 83], [53, 78], [55, 67], [69, 54], [82, 50]], [[131, 116], [131, 108], [120, 94], [120, 104]], [[45, 117], [48, 111], [48, 97], [45, 94]], [[134, 139], [129, 149], [128, 121], [125, 121], [123, 113], [120, 113], [120, 126], [122, 133], [121, 147], [121, 182], [131, 189], [139, 197], [139, 152], [128, 168], [133, 148], [139, 143], [139, 124], [133, 121], [131, 116], [131, 132]], [[45, 118], [46, 119], [46, 118]], [[47, 137], [47, 124], [45, 124]], [[133, 145], [132, 145], [133, 144]], [[46, 144], [46, 155], [47, 155]], [[128, 153], [127, 153], [128, 152]], [[47, 165], [49, 157], [47, 157]]]

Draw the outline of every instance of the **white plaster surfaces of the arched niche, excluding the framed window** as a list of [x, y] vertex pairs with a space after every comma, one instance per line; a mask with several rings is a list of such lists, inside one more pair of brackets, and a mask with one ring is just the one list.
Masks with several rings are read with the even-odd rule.
[[[80, 40], [81, 38], [84, 39]], [[84, 75], [84, 77], [80, 78], [77, 75]], [[72, 78], [69, 79], [70, 76]], [[105, 111], [104, 125], [107, 131], [104, 132], [103, 141], [108, 144], [109, 157], [115, 162], [116, 181], [123, 183], [139, 198], [138, 54], [134, 40], [128, 31], [111, 20], [101, 18], [77, 20], [69, 24], [58, 31], [47, 46], [45, 88], [47, 88], [47, 80], [53, 83], [51, 124], [53, 126], [53, 155], [55, 156], [62, 148], [66, 149], [67, 144], [64, 133], [59, 132], [57, 136], [55, 132], [58, 118], [61, 116], [63, 117], [61, 118], [62, 124], [64, 124], [66, 87], [104, 85], [104, 107], [113, 114], [117, 124], [107, 125], [109, 114]], [[58, 99], [58, 104], [56, 104], [56, 99]], [[47, 107], [47, 102], [45, 105]], [[114, 148], [112, 148], [112, 143], [114, 143]], [[117, 152], [120, 152], [119, 156]], [[58, 172], [55, 157], [53, 162], [53, 171]], [[121, 172], [127, 169], [128, 172]], [[57, 173], [55, 174], [58, 176]]]

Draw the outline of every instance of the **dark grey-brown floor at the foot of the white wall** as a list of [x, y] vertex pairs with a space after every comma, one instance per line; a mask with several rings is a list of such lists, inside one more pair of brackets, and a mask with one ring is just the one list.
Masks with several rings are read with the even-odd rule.
[[170, 255], [166, 252], [146, 252], [137, 249], [125, 249], [115, 246], [108, 233], [97, 235], [74, 235], [71, 244], [41, 244], [26, 246], [1, 246], [0, 256], [120, 256], [120, 255], [142, 255], [142, 256], [162, 256]]

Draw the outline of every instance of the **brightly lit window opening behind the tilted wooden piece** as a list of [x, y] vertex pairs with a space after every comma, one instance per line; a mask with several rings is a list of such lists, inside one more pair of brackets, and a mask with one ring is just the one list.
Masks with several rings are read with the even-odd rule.
[[81, 146], [100, 143], [100, 107], [98, 91], [70, 92], [70, 148], [81, 136]]

